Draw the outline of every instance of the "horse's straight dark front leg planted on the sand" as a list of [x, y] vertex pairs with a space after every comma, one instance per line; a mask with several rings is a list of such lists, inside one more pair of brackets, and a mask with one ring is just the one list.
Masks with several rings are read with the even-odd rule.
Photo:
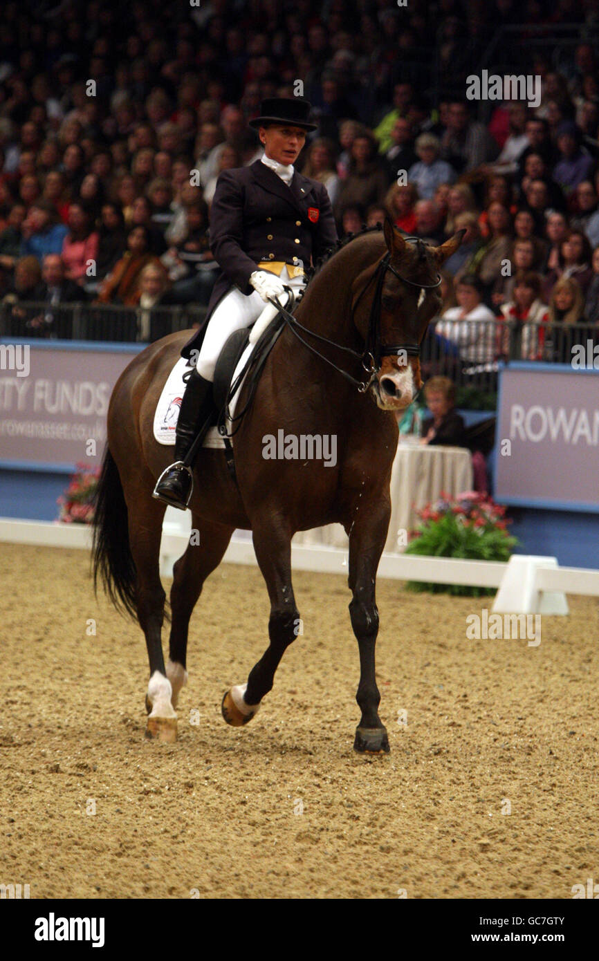
[[388, 500], [373, 505], [361, 502], [349, 534], [349, 586], [353, 594], [349, 613], [360, 649], [360, 684], [356, 701], [362, 710], [354, 751], [368, 754], [389, 751], [387, 728], [378, 711], [381, 695], [375, 677], [374, 650], [379, 632], [376, 574], [387, 539], [390, 512]]

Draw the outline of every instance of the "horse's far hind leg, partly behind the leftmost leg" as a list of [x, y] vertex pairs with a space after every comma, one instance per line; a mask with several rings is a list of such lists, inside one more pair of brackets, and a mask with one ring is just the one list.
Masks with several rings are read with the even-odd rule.
[[174, 707], [177, 706], [181, 688], [187, 683], [187, 631], [191, 612], [202, 593], [204, 581], [220, 564], [234, 530], [192, 514], [192, 534], [187, 550], [179, 557], [173, 568], [166, 677], [172, 686]]

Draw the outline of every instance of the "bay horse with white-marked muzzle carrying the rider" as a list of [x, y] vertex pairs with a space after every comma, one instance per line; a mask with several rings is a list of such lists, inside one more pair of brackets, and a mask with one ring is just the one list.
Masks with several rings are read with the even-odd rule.
[[[390, 517], [389, 479], [397, 446], [396, 413], [421, 386], [419, 344], [440, 305], [440, 265], [462, 242], [440, 247], [404, 236], [387, 219], [351, 236], [315, 268], [292, 317], [267, 357], [253, 403], [235, 435], [237, 483], [223, 451], [202, 448], [194, 465], [187, 550], [175, 563], [170, 591], [169, 658], [162, 654], [165, 594], [159, 571], [165, 505], [152, 497], [170, 451], [153, 435], [162, 387], [190, 332], [172, 333], [132, 360], [112, 391], [107, 448], [98, 484], [92, 548], [100, 579], [116, 607], [137, 617], [150, 664], [147, 736], [176, 738], [175, 707], [187, 682], [189, 618], [205, 579], [220, 563], [236, 528], [251, 530], [270, 599], [269, 644], [222, 702], [225, 721], [240, 727], [273, 686], [298, 633], [291, 585], [291, 537], [340, 522], [349, 535], [349, 604], [358, 639], [362, 717], [354, 748], [389, 751], [378, 713], [375, 642], [377, 567]], [[300, 342], [301, 341], [301, 342]], [[359, 380], [366, 371], [366, 379]], [[244, 384], [237, 408], [243, 407]], [[265, 435], [337, 437], [337, 463], [266, 459]], [[198, 543], [199, 540], [199, 543]]]

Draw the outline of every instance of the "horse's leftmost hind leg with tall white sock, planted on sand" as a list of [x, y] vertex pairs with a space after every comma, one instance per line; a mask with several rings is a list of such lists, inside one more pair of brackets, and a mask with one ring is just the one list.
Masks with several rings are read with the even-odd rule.
[[166, 677], [162, 654], [164, 594], [160, 575], [162, 519], [166, 506], [151, 496], [153, 480], [143, 473], [124, 486], [129, 514], [129, 542], [136, 565], [137, 620], [145, 635], [150, 662], [146, 694], [149, 711], [146, 737], [160, 741], [177, 740], [177, 715], [171, 702], [172, 689]]

